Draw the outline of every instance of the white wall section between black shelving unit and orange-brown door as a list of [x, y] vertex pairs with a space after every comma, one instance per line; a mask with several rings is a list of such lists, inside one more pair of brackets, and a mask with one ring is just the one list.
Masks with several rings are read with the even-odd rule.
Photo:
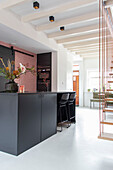
[[57, 57], [58, 91], [72, 91], [73, 55], [62, 46], [59, 46]]

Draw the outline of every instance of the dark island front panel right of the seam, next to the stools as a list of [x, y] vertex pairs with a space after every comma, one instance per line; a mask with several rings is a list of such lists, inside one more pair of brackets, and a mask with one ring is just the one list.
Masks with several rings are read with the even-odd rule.
[[57, 127], [56, 94], [42, 95], [42, 125], [41, 126], [42, 126], [41, 127], [42, 141], [56, 133], [56, 127]]

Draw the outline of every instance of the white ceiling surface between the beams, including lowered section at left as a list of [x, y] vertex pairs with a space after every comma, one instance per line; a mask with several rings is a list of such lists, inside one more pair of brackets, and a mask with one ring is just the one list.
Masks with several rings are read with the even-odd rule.
[[[8, 0], [0, 0], [1, 2], [7, 2]], [[11, 0], [9, 0], [10, 2]], [[13, 1], [13, 0], [12, 0]], [[57, 23], [57, 22], [63, 22], [64, 20], [70, 20], [72, 18], [80, 18], [80, 22], [70, 22], [68, 24], [65, 25], [61, 25], [61, 26], [65, 26], [65, 30], [66, 31], [71, 31], [72, 29], [75, 29], [74, 33], [70, 33], [70, 34], [66, 34], [66, 35], [62, 35], [62, 36], [56, 36], [54, 38], [54, 40], [62, 40], [64, 38], [73, 38], [76, 36], [82, 36], [82, 35], [86, 35], [86, 39], [84, 40], [79, 40], [79, 46], [80, 46], [80, 42], [86, 42], [87, 45], [87, 41], [89, 40], [89, 38], [87, 38], [87, 35], [91, 34], [94, 35], [94, 32], [97, 32], [98, 34], [98, 30], [87, 30], [87, 31], [82, 31], [76, 32], [76, 29], [79, 30], [81, 28], [85, 28], [85, 27], [89, 27], [89, 26], [95, 26], [99, 24], [99, 18], [98, 17], [92, 17], [91, 19], [81, 19], [84, 16], [91, 16], [92, 13], [96, 13], [98, 15], [99, 13], [99, 6], [98, 6], [98, 0], [94, 0], [91, 1], [90, 0], [38, 0], [38, 2], [40, 3], [40, 8], [38, 10], [35, 10], [33, 8], [33, 2], [34, 0], [25, 0], [25, 2], [22, 2], [20, 4], [11, 6], [10, 8], [7, 8], [6, 10], [11, 11], [13, 14], [19, 16], [19, 18], [21, 19], [22, 17], [29, 15], [29, 14], [37, 14], [40, 15], [40, 13], [44, 13], [45, 11], [50, 12], [52, 9], [56, 9], [56, 8], [60, 8], [63, 5], [68, 5], [70, 3], [78, 3], [79, 1], [81, 2], [88, 2], [87, 5], [80, 5], [80, 6], [74, 6], [71, 7], [70, 9], [67, 10], [60, 10], [59, 12], [56, 12], [56, 14], [53, 14], [53, 16], [55, 17], [55, 22], [54, 23], [50, 23], [49, 22], [49, 15], [47, 14], [44, 17], [41, 17], [39, 19], [34, 19], [29, 21], [28, 23], [33, 25], [34, 29], [38, 29], [38, 27], [42, 26], [43, 28], [45, 27], [45, 25], [50, 25], [49, 29], [45, 28], [43, 29], [43, 32], [45, 34], [51, 34], [51, 33], [61, 33], [60, 31], [60, 26], [55, 26], [54, 28], [51, 28], [51, 25]], [[16, 2], [16, 1], [15, 1]], [[52, 15], [52, 13], [51, 13]], [[18, 19], [18, 18], [17, 18]], [[23, 20], [21, 22], [24, 22]], [[14, 32], [13, 30], [8, 30], [8, 28], [3, 28], [3, 25], [0, 25], [0, 38], [1, 40], [5, 41], [5, 42], [16, 42], [16, 45], [18, 45], [19, 47], [22, 46], [22, 48], [25, 49], [29, 49], [32, 52], [35, 51], [35, 53], [37, 52], [46, 52], [49, 50], [52, 50], [46, 46], [44, 46], [41, 43], [38, 42], [32, 42], [33, 40], [29, 40], [28, 38], [22, 35], [19, 35], [19, 33]], [[10, 32], [10, 34], [8, 34]], [[7, 36], [6, 36], [7, 35]], [[92, 37], [92, 40], [97, 39], [98, 37], [95, 34], [95, 37]], [[22, 41], [21, 41], [22, 39]], [[25, 42], [26, 41], [26, 42]], [[56, 41], [57, 42], [57, 41]], [[70, 41], [70, 42], [66, 42], [66, 43], [61, 43], [63, 45], [65, 44], [72, 44], [73, 43], [77, 43], [77, 41]], [[82, 47], [82, 43], [81, 43], [81, 47]], [[75, 47], [76, 48], [76, 47]]]

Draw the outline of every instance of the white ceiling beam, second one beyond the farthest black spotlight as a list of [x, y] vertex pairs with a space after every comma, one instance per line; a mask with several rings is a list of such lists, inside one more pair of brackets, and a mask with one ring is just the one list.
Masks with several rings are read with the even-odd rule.
[[86, 34], [86, 35], [81, 35], [81, 36], [73, 36], [69, 38], [64, 38], [60, 40], [56, 40], [58, 44], [64, 44], [67, 42], [73, 42], [73, 41], [81, 41], [85, 39], [92, 39], [92, 38], [98, 38], [99, 37], [99, 32], [97, 31], [96, 33], [91, 33], [91, 34]]

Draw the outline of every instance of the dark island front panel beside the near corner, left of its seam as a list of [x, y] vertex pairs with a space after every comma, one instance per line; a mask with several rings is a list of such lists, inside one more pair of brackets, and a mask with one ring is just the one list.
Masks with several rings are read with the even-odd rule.
[[41, 96], [18, 96], [18, 154], [41, 142]]

